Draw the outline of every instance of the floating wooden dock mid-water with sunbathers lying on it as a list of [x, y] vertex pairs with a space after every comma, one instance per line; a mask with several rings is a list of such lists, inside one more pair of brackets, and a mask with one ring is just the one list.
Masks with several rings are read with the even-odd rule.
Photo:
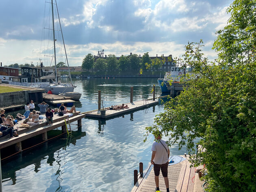
[[[158, 104], [158, 101], [153, 100], [141, 100], [141, 101], [135, 101], [132, 103], [128, 103], [125, 105], [128, 105], [128, 109], [121, 109], [121, 110], [106, 110], [106, 115], [101, 115], [100, 110], [93, 110], [89, 112], [85, 112], [86, 117], [92, 118], [92, 119], [110, 119], [115, 116], [121, 116], [123, 114], [126, 114], [128, 112], [132, 112], [135, 110], [139, 110], [142, 108], [147, 108], [149, 106], [154, 106]], [[121, 105], [119, 105], [121, 106]]]

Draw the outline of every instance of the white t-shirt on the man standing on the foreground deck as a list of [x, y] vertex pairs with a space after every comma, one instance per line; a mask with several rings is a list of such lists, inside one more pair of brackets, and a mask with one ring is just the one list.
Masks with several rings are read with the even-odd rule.
[[[160, 141], [165, 147], [161, 144]], [[156, 151], [156, 156], [153, 160], [155, 164], [165, 164], [168, 161], [168, 153], [166, 152], [166, 150], [168, 151], [168, 146], [166, 144], [166, 140], [160, 139], [160, 141], [154, 141], [152, 143], [151, 151]]]

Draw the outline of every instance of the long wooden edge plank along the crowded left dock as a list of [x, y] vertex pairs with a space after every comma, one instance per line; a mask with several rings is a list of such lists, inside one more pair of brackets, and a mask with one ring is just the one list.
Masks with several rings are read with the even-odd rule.
[[[77, 121], [78, 119], [82, 119], [84, 117], [85, 117], [85, 114], [80, 114], [80, 115], [71, 117], [69, 119], [69, 122], [74, 122], [74, 121]], [[52, 126], [44, 126], [44, 127], [38, 128], [38, 129], [30, 130], [29, 132], [20, 134], [19, 137], [10, 138], [8, 140], [4, 140], [4, 141], [0, 142], [0, 149], [3, 149], [3, 148], [8, 147], [10, 145], [13, 145], [17, 142], [21, 142], [21, 141], [26, 140], [28, 138], [37, 136], [39, 134], [43, 134], [43, 133], [48, 132], [48, 131], [50, 131], [52, 129], [55, 129], [57, 127], [61, 127], [63, 125], [65, 125], [65, 121], [61, 121], [59, 123], [54, 123]]]

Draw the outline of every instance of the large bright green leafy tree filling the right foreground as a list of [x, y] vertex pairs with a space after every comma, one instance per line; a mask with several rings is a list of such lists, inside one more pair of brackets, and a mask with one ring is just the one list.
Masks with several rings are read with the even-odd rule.
[[[228, 25], [217, 32], [218, 58], [204, 57], [200, 43], [186, 46], [182, 63], [193, 67], [184, 91], [165, 104], [149, 133], [160, 130], [205, 164], [208, 191], [256, 191], [256, 0], [235, 0]], [[196, 78], [197, 77], [197, 78]], [[146, 139], [146, 138], [145, 138]]]

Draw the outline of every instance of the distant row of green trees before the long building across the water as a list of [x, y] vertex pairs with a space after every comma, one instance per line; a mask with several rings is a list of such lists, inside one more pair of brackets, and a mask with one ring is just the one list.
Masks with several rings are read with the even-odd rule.
[[[171, 57], [168, 60], [172, 60]], [[144, 53], [141, 58], [137, 54], [122, 55], [119, 60], [114, 54], [109, 54], [106, 58], [95, 58], [89, 53], [82, 60], [82, 69], [88, 71], [158, 71], [163, 63], [165, 63], [165, 58], [151, 59], [148, 52]]]

